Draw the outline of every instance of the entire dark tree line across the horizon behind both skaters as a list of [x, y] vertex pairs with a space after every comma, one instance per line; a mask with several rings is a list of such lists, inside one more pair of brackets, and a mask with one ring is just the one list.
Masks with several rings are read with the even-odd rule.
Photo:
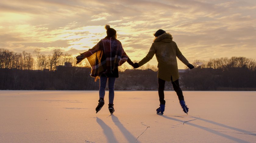
[[[51, 55], [10, 52], [0, 49], [1, 90], [98, 90], [99, 82], [90, 77], [91, 68], [84, 60], [75, 65], [75, 58], [54, 50]], [[64, 63], [70, 63], [66, 66]], [[180, 73], [183, 90], [256, 90], [256, 62], [245, 57], [195, 60], [195, 68]], [[119, 67], [115, 90], [158, 90], [156, 66], [138, 69]], [[48, 70], [45, 70], [48, 69]], [[165, 90], [172, 90], [166, 83]]]

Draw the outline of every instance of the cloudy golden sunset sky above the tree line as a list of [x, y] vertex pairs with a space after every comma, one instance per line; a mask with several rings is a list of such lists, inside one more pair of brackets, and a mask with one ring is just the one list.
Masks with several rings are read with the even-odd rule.
[[1, 0], [0, 48], [76, 56], [106, 36], [106, 24], [132, 61], [147, 55], [158, 29], [172, 34], [190, 63], [256, 59], [255, 0]]

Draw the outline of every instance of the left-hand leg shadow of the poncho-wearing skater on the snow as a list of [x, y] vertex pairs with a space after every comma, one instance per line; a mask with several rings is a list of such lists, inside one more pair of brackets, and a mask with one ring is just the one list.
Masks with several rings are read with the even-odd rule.
[[118, 142], [116, 140], [116, 137], [114, 136], [114, 133], [110, 127], [108, 127], [107, 124], [105, 124], [100, 118], [97, 117], [96, 119], [97, 123], [101, 126], [103, 129], [104, 134], [106, 135], [108, 142]]

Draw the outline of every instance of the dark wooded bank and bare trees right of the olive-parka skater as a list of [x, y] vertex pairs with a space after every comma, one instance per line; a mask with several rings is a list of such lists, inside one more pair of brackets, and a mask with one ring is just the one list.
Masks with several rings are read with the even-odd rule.
[[256, 90], [256, 62], [245, 57], [196, 60], [182, 77], [188, 90]]

